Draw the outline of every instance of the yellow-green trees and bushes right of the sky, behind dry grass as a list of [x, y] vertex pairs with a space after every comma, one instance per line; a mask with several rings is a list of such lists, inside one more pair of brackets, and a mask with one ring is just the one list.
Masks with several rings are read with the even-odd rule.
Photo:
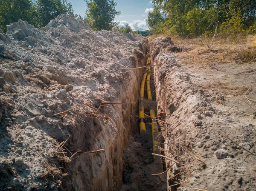
[[255, 0], [153, 0], [148, 25], [154, 34], [197, 37], [256, 32]]

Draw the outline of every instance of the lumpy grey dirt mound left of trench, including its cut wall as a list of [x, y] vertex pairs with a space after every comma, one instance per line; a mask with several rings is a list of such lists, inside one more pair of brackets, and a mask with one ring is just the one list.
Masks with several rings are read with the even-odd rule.
[[[130, 131], [125, 128], [134, 123], [122, 117], [135, 106], [99, 109], [99, 104], [137, 100], [133, 96], [137, 88], [128, 87], [139, 85], [142, 71], [123, 74], [120, 68], [141, 66], [145, 41], [132, 33], [93, 31], [66, 14], [41, 29], [19, 20], [7, 26], [6, 34], [0, 31], [0, 53], [19, 60], [0, 59], [0, 190], [63, 187], [62, 167], [70, 162], [61, 151], [65, 147], [69, 157], [79, 150], [105, 148], [86, 160], [76, 157], [81, 154], [73, 157], [68, 173], [75, 178], [70, 177], [65, 189], [121, 187], [122, 175], [115, 173], [122, 174], [122, 168], [113, 169], [112, 162], [122, 166], [122, 149]], [[55, 115], [98, 96], [84, 110]], [[96, 110], [99, 120], [87, 115]]]

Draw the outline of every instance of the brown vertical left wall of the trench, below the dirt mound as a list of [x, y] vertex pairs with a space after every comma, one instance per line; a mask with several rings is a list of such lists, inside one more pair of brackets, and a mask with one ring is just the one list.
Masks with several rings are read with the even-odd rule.
[[[145, 65], [146, 47], [135, 51], [130, 57], [131, 68]], [[111, 103], [133, 103], [138, 101], [142, 69], [134, 69], [123, 75], [125, 80], [116, 84], [117, 93]], [[81, 150], [105, 151], [96, 154], [80, 154], [72, 163], [72, 179], [76, 190], [83, 191], [118, 191], [122, 186], [123, 151], [128, 145], [129, 134], [135, 126], [137, 103], [106, 105], [101, 112], [108, 120], [88, 120], [85, 125], [78, 125], [70, 146]]]

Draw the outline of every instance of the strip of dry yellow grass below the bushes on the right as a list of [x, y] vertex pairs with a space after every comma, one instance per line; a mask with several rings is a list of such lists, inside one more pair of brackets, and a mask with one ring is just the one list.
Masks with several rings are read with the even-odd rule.
[[211, 51], [207, 45], [211, 43], [212, 37], [194, 39], [172, 37], [172, 41], [176, 46], [185, 46], [190, 49], [190, 51], [175, 53], [182, 60], [182, 64], [201, 66], [215, 63], [256, 62], [256, 41], [253, 35], [239, 39], [215, 37]]

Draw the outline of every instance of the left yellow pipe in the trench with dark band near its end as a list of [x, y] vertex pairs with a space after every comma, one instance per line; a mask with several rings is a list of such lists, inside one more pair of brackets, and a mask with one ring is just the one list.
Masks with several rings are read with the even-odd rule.
[[139, 99], [139, 122], [140, 122], [140, 134], [142, 131], [146, 131], [145, 125], [145, 115], [144, 115], [144, 107], [141, 104], [141, 101], [144, 100], [144, 89], [145, 89], [145, 80], [147, 77], [147, 73], [143, 75], [143, 79], [140, 85], [140, 99]]

